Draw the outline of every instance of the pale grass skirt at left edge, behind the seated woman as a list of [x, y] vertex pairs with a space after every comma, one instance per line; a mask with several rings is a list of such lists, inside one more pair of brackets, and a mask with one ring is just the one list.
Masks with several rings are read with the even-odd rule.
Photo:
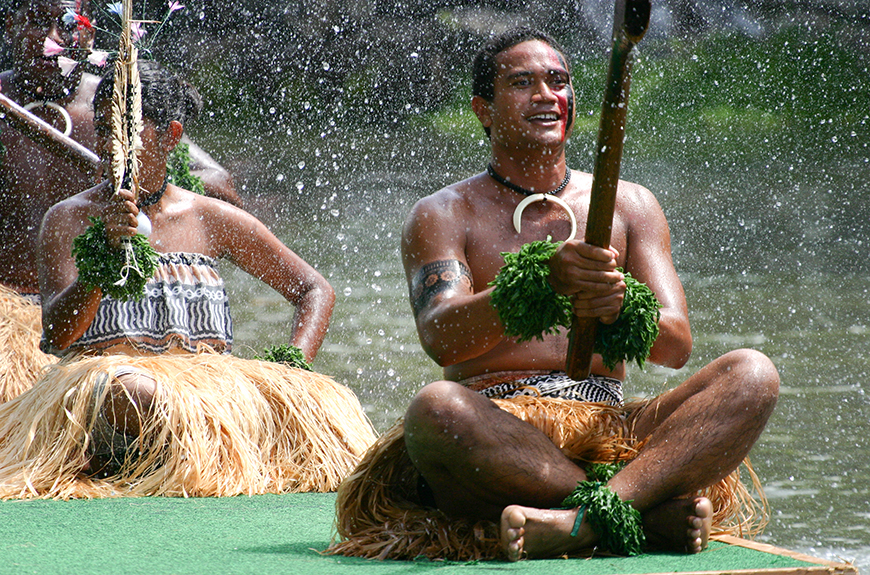
[[42, 309], [0, 286], [0, 403], [30, 389], [57, 358], [39, 351]]

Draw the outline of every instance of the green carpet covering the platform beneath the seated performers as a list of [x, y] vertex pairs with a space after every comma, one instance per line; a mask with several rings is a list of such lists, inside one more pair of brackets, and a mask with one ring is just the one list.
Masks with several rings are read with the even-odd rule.
[[610, 575], [812, 566], [719, 542], [694, 556], [647, 554], [520, 563], [323, 556], [318, 551], [329, 545], [334, 504], [334, 494], [313, 493], [0, 502], [0, 573]]

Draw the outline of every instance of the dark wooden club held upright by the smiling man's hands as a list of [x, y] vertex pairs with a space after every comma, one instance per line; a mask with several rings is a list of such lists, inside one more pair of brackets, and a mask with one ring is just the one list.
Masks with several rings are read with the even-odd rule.
[[[634, 46], [649, 26], [650, 0], [616, 0], [613, 16], [613, 49], [601, 105], [595, 168], [592, 172], [592, 198], [586, 220], [585, 241], [599, 247], [610, 245], [616, 186], [625, 139], [625, 114], [631, 84]], [[598, 318], [574, 317], [568, 344], [566, 372], [571, 379], [589, 377], [592, 348]]]

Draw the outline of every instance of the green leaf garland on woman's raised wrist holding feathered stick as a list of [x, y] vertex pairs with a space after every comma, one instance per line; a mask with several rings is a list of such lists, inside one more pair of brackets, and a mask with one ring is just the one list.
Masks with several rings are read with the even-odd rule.
[[[136, 234], [130, 239], [130, 247], [139, 264], [138, 269], [131, 268], [126, 246], [112, 247], [103, 220], [88, 219], [91, 226], [73, 239], [72, 255], [79, 270], [79, 280], [87, 286], [100, 288], [103, 295], [119, 301], [142, 299], [145, 283], [157, 269], [157, 252], [148, 243], [148, 238]], [[126, 281], [119, 282], [119, 278], [126, 278]]]

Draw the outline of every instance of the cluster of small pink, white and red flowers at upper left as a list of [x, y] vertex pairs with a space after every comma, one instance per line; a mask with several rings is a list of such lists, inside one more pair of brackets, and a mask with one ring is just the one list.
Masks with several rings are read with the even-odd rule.
[[[104, 50], [79, 48], [78, 43], [84, 31], [93, 32], [95, 30], [98, 30], [100, 32], [106, 32], [113, 36], [117, 36], [117, 34], [108, 29], [96, 26], [94, 22], [91, 21], [91, 19], [83, 14], [80, 14], [80, 5], [81, 2], [77, 1], [74, 7], [71, 6], [67, 8], [66, 12], [61, 18], [63, 23], [67, 26], [76, 27], [76, 31], [73, 32], [73, 45], [65, 48], [48, 37], [46, 37], [45, 42], [43, 43], [43, 55], [47, 57], [57, 57], [57, 65], [60, 67], [60, 72], [64, 77], [72, 74], [73, 70], [75, 70], [81, 62], [87, 61], [93, 66], [102, 68], [109, 61], [109, 52], [106, 52]], [[160, 25], [157, 30], [153, 34], [151, 34], [151, 41], [147, 43], [142, 42], [142, 38], [147, 33], [147, 31], [143, 27], [143, 24], [156, 22], [152, 20], [133, 21], [131, 23], [131, 34], [133, 37], [133, 42], [137, 43], [137, 48], [139, 49], [139, 51], [144, 54], [150, 53], [151, 47], [154, 45], [154, 40], [157, 38], [160, 30], [163, 29], [164, 24], [166, 24], [166, 21], [169, 19], [172, 13], [177, 10], [182, 10], [184, 8], [185, 6], [178, 0], [168, 0], [166, 14], [164, 15], [163, 19], [159, 21]], [[120, 24], [123, 13], [123, 7], [121, 2], [112, 2], [105, 8], [102, 8], [102, 10], [106, 15], [109, 16], [110, 19]], [[67, 55], [68, 53], [74, 57], [71, 58]]]

